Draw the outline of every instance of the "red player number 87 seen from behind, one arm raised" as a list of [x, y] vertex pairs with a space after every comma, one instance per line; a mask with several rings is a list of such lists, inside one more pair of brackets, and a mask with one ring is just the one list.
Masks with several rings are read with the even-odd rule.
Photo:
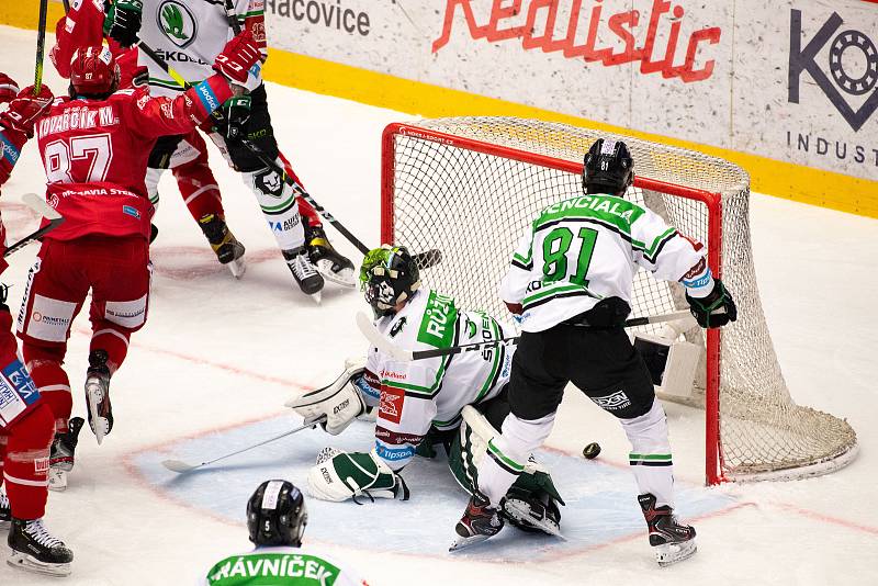
[[86, 47], [71, 63], [71, 98], [57, 100], [36, 126], [46, 199], [66, 222], [44, 238], [18, 333], [55, 416], [52, 462], [61, 471], [72, 467], [74, 458], [67, 441], [72, 397], [61, 363], [86, 295], [91, 290], [86, 399], [98, 443], [113, 427], [110, 377], [125, 359], [132, 333], [146, 322], [154, 213], [144, 181], [149, 151], [159, 136], [185, 134], [202, 123], [258, 58], [250, 34], [239, 35], [216, 57], [217, 75], [170, 100], [150, 98], [146, 89], [115, 91], [119, 67], [110, 49]]

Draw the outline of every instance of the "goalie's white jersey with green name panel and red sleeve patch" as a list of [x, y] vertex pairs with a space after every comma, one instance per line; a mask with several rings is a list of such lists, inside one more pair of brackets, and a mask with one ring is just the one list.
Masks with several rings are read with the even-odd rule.
[[[375, 322], [394, 345], [407, 350], [449, 348], [514, 336], [482, 312], [459, 309], [436, 291], [417, 291], [402, 312]], [[493, 398], [509, 381], [515, 347], [498, 345], [426, 360], [398, 361], [370, 348], [357, 381], [371, 402], [380, 398], [375, 452], [392, 470], [407, 464], [431, 426], [460, 425], [466, 405]]]

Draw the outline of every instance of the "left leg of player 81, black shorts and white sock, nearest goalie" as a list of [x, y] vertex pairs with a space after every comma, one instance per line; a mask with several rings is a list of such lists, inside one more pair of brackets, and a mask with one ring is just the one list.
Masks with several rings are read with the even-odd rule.
[[476, 469], [479, 491], [470, 499], [458, 522], [458, 540], [452, 549], [483, 541], [503, 528], [500, 503], [525, 470], [528, 459], [549, 436], [564, 386], [565, 340], [556, 328], [524, 333], [513, 358], [509, 379], [510, 414], [500, 435], [487, 442], [486, 453]]

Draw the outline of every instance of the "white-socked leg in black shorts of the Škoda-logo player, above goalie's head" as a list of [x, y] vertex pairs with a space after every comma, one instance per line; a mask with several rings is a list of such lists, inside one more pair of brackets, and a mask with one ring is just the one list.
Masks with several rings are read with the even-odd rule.
[[[264, 86], [254, 90], [250, 99], [251, 110], [247, 121], [247, 136], [267, 157], [275, 160], [278, 165], [282, 165], [283, 161], [278, 156], [274, 131], [271, 127]], [[211, 133], [211, 138], [230, 165], [241, 173], [244, 183], [256, 195], [299, 288], [306, 295], [319, 293], [324, 280], [317, 272], [305, 247], [305, 230], [299, 215], [299, 203], [293, 188], [288, 185], [278, 173], [266, 166], [240, 142], [226, 143], [224, 137], [216, 132]]]

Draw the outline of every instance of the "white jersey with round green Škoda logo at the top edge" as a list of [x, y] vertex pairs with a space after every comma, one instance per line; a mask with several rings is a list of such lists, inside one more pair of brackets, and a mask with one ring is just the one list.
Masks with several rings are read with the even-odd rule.
[[[264, 0], [235, 0], [234, 4], [235, 16], [252, 33], [264, 60]], [[190, 83], [214, 74], [214, 59], [234, 36], [222, 1], [144, 0], [140, 40]], [[137, 61], [149, 69], [153, 95], [172, 98], [183, 91], [145, 52], [140, 50]], [[261, 64], [257, 64], [245, 88], [252, 91], [261, 83]]]

